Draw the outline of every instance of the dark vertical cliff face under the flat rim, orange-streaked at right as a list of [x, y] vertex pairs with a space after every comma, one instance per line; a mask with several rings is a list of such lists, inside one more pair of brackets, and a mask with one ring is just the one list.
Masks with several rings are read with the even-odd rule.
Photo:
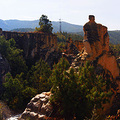
[[[47, 34], [42, 32], [8, 32], [3, 31], [2, 34], [5, 38], [14, 38], [18, 48], [23, 49], [25, 58], [34, 58], [35, 56], [42, 56], [45, 58], [44, 53], [52, 47], [57, 46], [57, 37], [54, 34]], [[45, 50], [46, 49], [46, 50]]]

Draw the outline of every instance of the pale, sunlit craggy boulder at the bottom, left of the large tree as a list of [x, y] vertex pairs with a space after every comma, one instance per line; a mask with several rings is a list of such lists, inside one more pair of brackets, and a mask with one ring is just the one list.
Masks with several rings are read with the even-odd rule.
[[49, 101], [50, 96], [50, 92], [43, 92], [32, 98], [19, 120], [44, 120], [50, 117], [53, 111], [53, 107]]

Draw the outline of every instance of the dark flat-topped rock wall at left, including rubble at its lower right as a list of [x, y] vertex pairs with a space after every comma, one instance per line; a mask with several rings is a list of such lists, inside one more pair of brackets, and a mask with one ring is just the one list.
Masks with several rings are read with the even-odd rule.
[[[62, 55], [57, 51], [57, 36], [52, 33], [10, 32], [0, 29], [0, 35], [4, 35], [6, 40], [15, 39], [17, 48], [23, 49], [23, 56], [28, 61], [28, 64], [29, 61], [36, 62], [42, 58], [52, 67]], [[53, 55], [53, 53], [55, 54]], [[51, 54], [53, 58], [49, 56]]]

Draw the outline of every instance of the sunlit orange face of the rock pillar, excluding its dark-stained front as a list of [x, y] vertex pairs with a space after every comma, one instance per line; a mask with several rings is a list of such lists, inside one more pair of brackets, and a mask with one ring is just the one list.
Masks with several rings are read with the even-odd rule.
[[[116, 79], [119, 76], [120, 70], [116, 58], [109, 48], [109, 35], [107, 32], [107, 27], [97, 23], [95, 23], [95, 25], [97, 30], [97, 40], [90, 44], [90, 46], [89, 43], [84, 43], [84, 52], [81, 56], [86, 60], [97, 60], [97, 64], [100, 64], [104, 69], [110, 71], [113, 78]], [[94, 28], [91, 27], [91, 31], [92, 29]], [[85, 30], [84, 33], [84, 38], [86, 38]], [[89, 40], [89, 38], [87, 39]], [[90, 55], [89, 57], [87, 57], [88, 54]]]

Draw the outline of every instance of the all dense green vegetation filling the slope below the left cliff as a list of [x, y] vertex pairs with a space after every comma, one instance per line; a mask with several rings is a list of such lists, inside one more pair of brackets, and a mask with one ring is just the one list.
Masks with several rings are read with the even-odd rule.
[[32, 67], [28, 70], [29, 66], [22, 55], [23, 50], [16, 48], [14, 39], [6, 40], [3, 36], [0, 37], [0, 52], [11, 68], [3, 83], [1, 99], [12, 109], [24, 109], [37, 93], [50, 90], [48, 78], [51, 69], [43, 60], [30, 65]]

